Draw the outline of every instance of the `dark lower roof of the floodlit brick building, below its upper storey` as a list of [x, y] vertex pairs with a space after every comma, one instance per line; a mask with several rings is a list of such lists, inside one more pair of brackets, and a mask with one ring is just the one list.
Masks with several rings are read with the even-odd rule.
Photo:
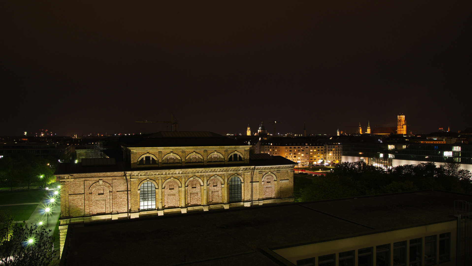
[[[112, 159], [112, 158], [107, 158]], [[84, 160], [84, 159], [83, 159]], [[98, 159], [88, 159], [98, 160]], [[250, 154], [249, 164], [228, 163], [217, 164], [219, 167], [231, 166], [269, 166], [269, 165], [287, 165], [297, 164], [284, 158], [282, 156], [271, 156], [269, 154]], [[115, 165], [84, 165], [84, 163], [59, 163], [54, 174], [75, 174], [75, 173], [101, 173], [101, 172], [124, 172], [124, 171], [153, 171], [160, 169], [186, 169], [186, 168], [211, 168], [215, 164], [195, 165], [186, 164], [185, 167], [171, 166], [171, 167], [146, 167], [146, 168], [131, 168], [127, 162], [116, 162]]]

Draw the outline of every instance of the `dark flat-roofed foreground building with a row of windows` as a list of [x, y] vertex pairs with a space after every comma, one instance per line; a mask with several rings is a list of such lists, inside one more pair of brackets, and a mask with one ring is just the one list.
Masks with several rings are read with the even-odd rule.
[[469, 266], [471, 201], [423, 190], [77, 223], [60, 265]]

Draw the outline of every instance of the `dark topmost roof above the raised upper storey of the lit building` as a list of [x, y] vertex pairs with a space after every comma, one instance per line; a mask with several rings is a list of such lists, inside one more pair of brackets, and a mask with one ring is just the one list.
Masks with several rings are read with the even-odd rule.
[[128, 147], [247, 146], [210, 131], [160, 131], [143, 137], [120, 138]]

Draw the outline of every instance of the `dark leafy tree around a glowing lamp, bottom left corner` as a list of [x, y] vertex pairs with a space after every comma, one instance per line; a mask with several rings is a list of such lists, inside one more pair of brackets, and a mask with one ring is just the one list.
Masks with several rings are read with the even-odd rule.
[[13, 228], [9, 239], [0, 245], [0, 264], [6, 266], [50, 266], [53, 256], [52, 230], [46, 231], [37, 224], [18, 224], [7, 221]]

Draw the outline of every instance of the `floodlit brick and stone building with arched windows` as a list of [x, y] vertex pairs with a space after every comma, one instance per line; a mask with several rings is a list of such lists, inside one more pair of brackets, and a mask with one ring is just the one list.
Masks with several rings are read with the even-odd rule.
[[[212, 132], [157, 132], [119, 139], [115, 158], [60, 163], [61, 249], [71, 223], [292, 202], [293, 168], [283, 156]], [[274, 154], [275, 155], [275, 154]]]

